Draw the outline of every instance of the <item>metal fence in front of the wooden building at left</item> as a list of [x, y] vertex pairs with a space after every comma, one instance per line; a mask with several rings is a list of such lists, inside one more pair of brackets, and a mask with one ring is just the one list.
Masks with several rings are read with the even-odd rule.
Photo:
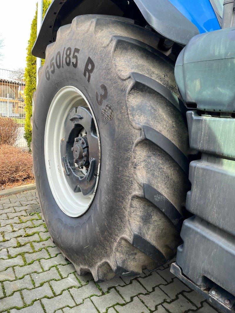
[[27, 149], [24, 139], [25, 102], [24, 102], [24, 71], [0, 69], [0, 116], [14, 119], [19, 126], [16, 145]]

